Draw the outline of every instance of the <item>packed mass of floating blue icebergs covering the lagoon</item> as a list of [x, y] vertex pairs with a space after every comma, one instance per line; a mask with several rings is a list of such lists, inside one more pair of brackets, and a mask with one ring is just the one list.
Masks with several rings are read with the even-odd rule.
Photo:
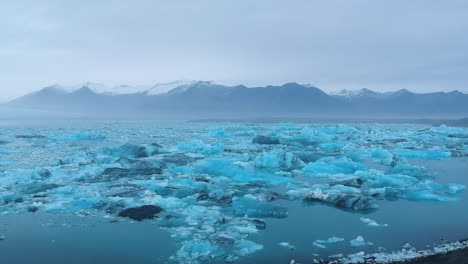
[[[236, 125], [216, 127], [208, 133], [199, 127], [184, 133], [171, 128], [134, 133], [134, 138], [106, 130], [106, 140], [58, 132], [61, 137], [56, 139], [18, 137], [19, 144], [14, 136], [6, 135], [9, 143], [1, 146], [5, 149], [2, 158], [5, 155], [26, 164], [21, 155], [14, 156], [18, 153], [14, 148], [21, 144], [28, 148], [38, 145], [53, 158], [52, 164], [37, 168], [34, 161], [31, 168], [2, 165], [0, 210], [120, 215], [132, 220], [154, 217], [152, 222], [180, 243], [175, 262], [203, 263], [235, 261], [261, 250], [263, 246], [251, 240], [267, 228], [263, 218], [287, 217], [288, 208], [283, 205], [299, 203], [293, 201], [296, 199], [367, 211], [377, 209], [384, 199], [456, 201], [465, 188], [437, 183], [437, 175], [408, 161], [458, 157], [450, 153], [465, 155], [466, 136], [458, 129], [304, 126]], [[153, 136], [167, 147], [151, 144]], [[116, 142], [129, 143], [114, 145]], [[31, 153], [34, 151], [44, 155], [40, 149]], [[371, 227], [387, 226], [366, 217], [359, 220]], [[319, 239], [313, 246], [331, 248], [342, 241], [338, 237]], [[361, 236], [350, 244], [370, 245]], [[288, 242], [278, 245], [294, 249]], [[341, 246], [348, 247], [336, 244]], [[378, 254], [383, 258], [383, 253]], [[336, 258], [342, 256], [335, 254]], [[352, 257], [366, 256], [370, 254]]]

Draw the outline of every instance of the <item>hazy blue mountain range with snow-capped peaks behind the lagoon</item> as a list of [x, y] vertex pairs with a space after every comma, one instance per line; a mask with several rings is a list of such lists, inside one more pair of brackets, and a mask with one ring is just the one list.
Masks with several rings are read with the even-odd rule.
[[1, 109], [8, 109], [10, 117], [40, 113], [118, 119], [460, 118], [468, 116], [468, 95], [369, 89], [327, 94], [298, 83], [250, 88], [205, 81], [113, 87], [85, 83], [45, 87]]

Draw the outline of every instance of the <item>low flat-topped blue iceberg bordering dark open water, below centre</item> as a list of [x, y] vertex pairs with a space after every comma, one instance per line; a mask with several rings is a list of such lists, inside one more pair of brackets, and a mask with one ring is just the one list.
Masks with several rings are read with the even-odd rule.
[[278, 217], [288, 216], [288, 209], [271, 203], [260, 202], [252, 198], [238, 197], [232, 201], [234, 212], [249, 217]]

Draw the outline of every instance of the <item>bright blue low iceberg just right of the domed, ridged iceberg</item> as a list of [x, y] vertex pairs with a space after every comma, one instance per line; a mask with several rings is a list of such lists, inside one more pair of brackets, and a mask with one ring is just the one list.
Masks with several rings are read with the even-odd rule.
[[366, 166], [361, 163], [354, 162], [346, 157], [339, 159], [322, 158], [316, 162], [308, 163], [302, 171], [309, 175], [320, 174], [352, 174], [358, 170], [366, 170]]

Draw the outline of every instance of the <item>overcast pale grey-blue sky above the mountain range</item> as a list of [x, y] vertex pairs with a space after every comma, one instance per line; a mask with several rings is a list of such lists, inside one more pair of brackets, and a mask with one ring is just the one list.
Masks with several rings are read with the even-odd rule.
[[468, 1], [0, 1], [0, 100], [85, 81], [468, 93]]

